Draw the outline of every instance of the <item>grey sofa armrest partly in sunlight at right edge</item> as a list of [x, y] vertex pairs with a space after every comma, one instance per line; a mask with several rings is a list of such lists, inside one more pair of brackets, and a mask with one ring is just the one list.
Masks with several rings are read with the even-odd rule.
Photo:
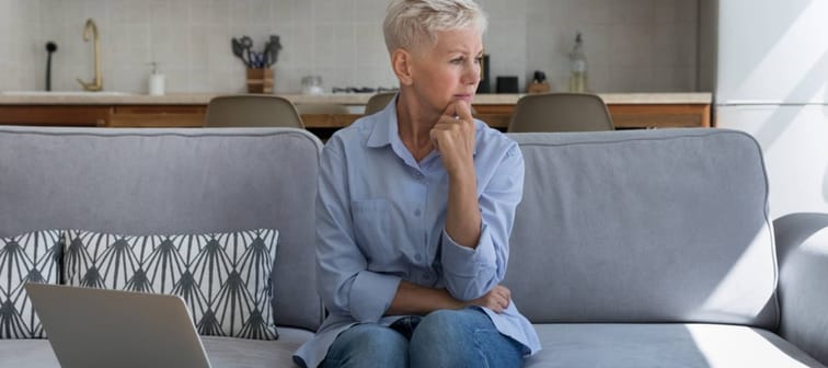
[[773, 229], [780, 335], [828, 364], [828, 214], [786, 215]]

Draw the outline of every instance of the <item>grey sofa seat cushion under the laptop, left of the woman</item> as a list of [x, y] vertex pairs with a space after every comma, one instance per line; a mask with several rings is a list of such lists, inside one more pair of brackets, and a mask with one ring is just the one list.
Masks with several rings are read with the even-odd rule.
[[[202, 336], [214, 368], [297, 367], [294, 352], [313, 336], [307, 330], [279, 326], [279, 340]], [[45, 338], [0, 341], [0, 367], [59, 368]]]

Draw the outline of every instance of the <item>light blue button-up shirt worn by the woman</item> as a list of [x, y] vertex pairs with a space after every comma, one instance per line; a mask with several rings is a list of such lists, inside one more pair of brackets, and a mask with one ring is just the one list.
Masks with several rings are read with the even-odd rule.
[[[446, 233], [448, 174], [437, 151], [414, 160], [400, 139], [394, 103], [331, 137], [320, 159], [317, 197], [317, 286], [330, 315], [295, 358], [315, 367], [345, 329], [401, 318], [383, 314], [403, 279], [447, 288], [461, 300], [479, 298], [503, 280], [524, 157], [511, 139], [483, 122], [474, 125], [482, 218], [476, 249]], [[527, 355], [540, 350], [514, 300], [503, 313], [481, 309]]]

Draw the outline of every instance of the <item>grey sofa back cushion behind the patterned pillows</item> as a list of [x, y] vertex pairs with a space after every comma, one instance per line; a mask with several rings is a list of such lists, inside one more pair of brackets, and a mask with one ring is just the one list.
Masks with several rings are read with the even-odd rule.
[[292, 128], [0, 127], [0, 237], [277, 229], [277, 325], [315, 330], [321, 142]]

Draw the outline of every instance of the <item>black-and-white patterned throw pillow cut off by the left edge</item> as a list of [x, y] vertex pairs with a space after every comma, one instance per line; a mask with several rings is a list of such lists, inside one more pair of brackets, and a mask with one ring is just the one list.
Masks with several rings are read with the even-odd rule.
[[0, 338], [46, 337], [23, 284], [58, 284], [62, 241], [59, 230], [0, 238]]

